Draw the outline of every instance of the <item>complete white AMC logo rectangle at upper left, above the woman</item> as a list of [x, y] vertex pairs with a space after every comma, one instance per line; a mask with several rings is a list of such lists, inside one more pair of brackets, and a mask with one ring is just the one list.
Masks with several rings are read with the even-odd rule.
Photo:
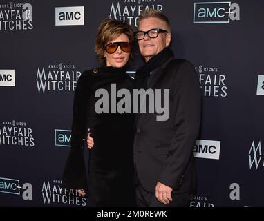
[[55, 26], [83, 26], [84, 6], [55, 8]]

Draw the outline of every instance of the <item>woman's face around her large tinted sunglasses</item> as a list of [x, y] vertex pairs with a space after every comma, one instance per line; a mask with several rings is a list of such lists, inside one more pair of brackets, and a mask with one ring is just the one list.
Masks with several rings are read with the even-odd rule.
[[[125, 34], [121, 34], [117, 38], [107, 42], [107, 44], [113, 42], [129, 43], [129, 37], [127, 37], [127, 35]], [[126, 65], [127, 61], [129, 61], [129, 56], [131, 52], [124, 52], [124, 50], [122, 50], [120, 47], [121, 46], [118, 46], [117, 50], [113, 52], [113, 54], [109, 54], [108, 52], [106, 52], [106, 50], [104, 51], [104, 57], [106, 57], [106, 66], [122, 68], [123, 66]], [[127, 46], [124, 45], [124, 49], [126, 49], [125, 47], [127, 48]]]

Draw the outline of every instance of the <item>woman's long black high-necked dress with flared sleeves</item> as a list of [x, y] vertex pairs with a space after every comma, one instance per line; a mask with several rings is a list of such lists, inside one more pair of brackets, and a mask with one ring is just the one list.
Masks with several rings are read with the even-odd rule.
[[[134, 203], [133, 114], [118, 111], [113, 113], [116, 104], [122, 99], [116, 93], [124, 88], [132, 94], [133, 79], [125, 73], [125, 68], [86, 70], [77, 82], [71, 150], [62, 182], [64, 187], [86, 189], [88, 206], [133, 206]], [[106, 99], [109, 105], [104, 106], [109, 113], [95, 111], [95, 104], [99, 104], [99, 99], [102, 98], [102, 95], [95, 97], [98, 89], [101, 92], [103, 89], [109, 95], [109, 99]], [[86, 179], [82, 146], [88, 128], [95, 144], [89, 153]]]

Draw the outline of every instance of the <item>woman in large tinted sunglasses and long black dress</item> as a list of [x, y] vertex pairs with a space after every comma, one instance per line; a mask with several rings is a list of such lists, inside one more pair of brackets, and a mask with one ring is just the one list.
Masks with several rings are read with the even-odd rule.
[[[126, 74], [132, 44], [133, 29], [129, 24], [114, 19], [102, 21], [95, 52], [104, 66], [84, 71], [77, 82], [71, 150], [63, 184], [78, 189], [82, 195], [87, 189], [88, 206], [133, 206], [133, 115], [111, 113], [110, 107], [121, 99], [111, 101], [115, 96], [111, 97], [111, 87], [133, 90], [133, 79]], [[100, 113], [95, 106], [101, 99], [95, 96], [98, 89], [109, 94], [109, 113]], [[96, 140], [89, 153], [88, 182], [82, 148], [87, 128]]]

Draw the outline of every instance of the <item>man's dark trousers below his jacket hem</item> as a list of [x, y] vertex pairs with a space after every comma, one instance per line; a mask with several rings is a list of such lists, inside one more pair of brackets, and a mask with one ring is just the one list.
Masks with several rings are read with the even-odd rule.
[[135, 200], [138, 207], [189, 207], [191, 193], [176, 193], [171, 192], [172, 202], [163, 204], [155, 197], [155, 193], [146, 191], [138, 180], [138, 175], [135, 174]]

